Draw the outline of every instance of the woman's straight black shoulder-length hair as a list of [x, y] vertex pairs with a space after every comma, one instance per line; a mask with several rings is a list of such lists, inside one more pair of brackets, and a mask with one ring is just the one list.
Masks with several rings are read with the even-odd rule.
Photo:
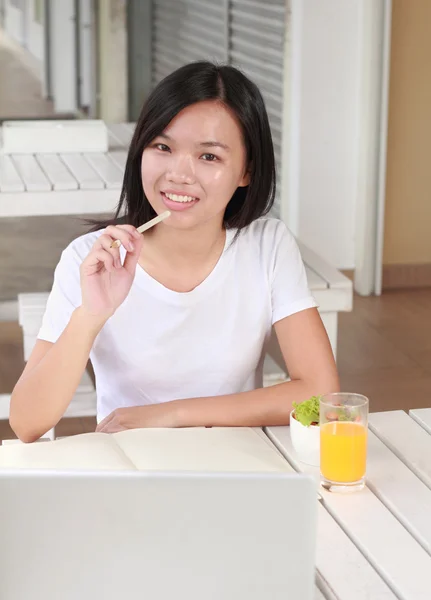
[[275, 160], [262, 95], [238, 69], [199, 61], [165, 77], [149, 95], [130, 144], [115, 217], [98, 222], [94, 229], [120, 222], [138, 227], [156, 216], [142, 186], [142, 153], [180, 111], [204, 100], [218, 100], [228, 107], [244, 136], [250, 182], [234, 192], [226, 207], [224, 226], [242, 229], [268, 213], [275, 196]]

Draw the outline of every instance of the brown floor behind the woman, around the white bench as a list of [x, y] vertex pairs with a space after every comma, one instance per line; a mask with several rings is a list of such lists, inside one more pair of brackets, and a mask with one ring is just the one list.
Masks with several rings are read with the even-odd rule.
[[[343, 390], [370, 398], [373, 412], [431, 407], [431, 289], [355, 297], [340, 314], [338, 367]], [[23, 368], [21, 330], [0, 323], [0, 393], [10, 392]], [[90, 431], [94, 419], [67, 419], [58, 435]], [[11, 437], [0, 423], [0, 439]]]

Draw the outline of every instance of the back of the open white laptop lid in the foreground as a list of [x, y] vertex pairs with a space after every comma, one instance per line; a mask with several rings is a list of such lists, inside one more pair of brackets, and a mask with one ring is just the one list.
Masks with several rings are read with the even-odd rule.
[[282, 468], [3, 464], [0, 598], [311, 600], [316, 515], [315, 483]]

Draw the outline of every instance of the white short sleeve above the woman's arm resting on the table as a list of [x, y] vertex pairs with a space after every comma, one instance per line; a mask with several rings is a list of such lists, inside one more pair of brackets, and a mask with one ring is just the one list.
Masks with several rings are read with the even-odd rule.
[[298, 244], [282, 221], [277, 223], [272, 260], [272, 324], [317, 306], [308, 287]]

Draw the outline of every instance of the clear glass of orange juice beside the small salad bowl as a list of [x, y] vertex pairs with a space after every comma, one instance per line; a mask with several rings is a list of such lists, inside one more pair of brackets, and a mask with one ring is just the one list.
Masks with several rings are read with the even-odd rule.
[[351, 492], [365, 485], [368, 398], [332, 393], [320, 398], [320, 474], [331, 492]]

